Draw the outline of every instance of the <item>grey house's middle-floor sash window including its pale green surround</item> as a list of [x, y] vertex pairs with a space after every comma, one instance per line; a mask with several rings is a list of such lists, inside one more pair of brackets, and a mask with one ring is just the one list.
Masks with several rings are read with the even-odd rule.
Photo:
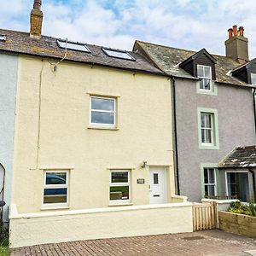
[[197, 108], [200, 149], [218, 149], [218, 110]]

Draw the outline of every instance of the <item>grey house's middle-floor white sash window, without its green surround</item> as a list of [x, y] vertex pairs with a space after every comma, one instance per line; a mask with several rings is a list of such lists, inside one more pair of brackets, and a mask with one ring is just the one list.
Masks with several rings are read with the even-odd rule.
[[213, 113], [201, 112], [201, 143], [205, 145], [213, 145], [214, 142], [214, 126]]

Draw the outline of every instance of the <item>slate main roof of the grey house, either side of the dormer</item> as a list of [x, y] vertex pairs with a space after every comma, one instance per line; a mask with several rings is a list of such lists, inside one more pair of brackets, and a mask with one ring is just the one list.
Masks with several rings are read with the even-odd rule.
[[[183, 68], [179, 67], [179, 64], [189, 59], [189, 57], [192, 55], [195, 55], [195, 51], [188, 49], [177, 49], [142, 41], [136, 41], [134, 49], [137, 48], [137, 45], [148, 54], [149, 58], [156, 63], [157, 67], [160, 67], [160, 69], [167, 74], [183, 79], [195, 79], [195, 77], [191, 76], [189, 73], [184, 71]], [[222, 84], [235, 84], [238, 86], [254, 87], [252, 84], [246, 84], [240, 79], [232, 77], [231, 71], [237, 67], [240, 67], [241, 64], [223, 55], [212, 55], [212, 57], [217, 61], [217, 64], [215, 65], [216, 82]]]

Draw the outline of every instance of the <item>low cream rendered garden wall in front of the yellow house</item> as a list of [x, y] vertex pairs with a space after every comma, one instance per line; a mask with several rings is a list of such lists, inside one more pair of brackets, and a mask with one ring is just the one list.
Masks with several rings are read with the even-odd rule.
[[13, 205], [9, 219], [10, 247], [193, 231], [189, 202], [23, 214]]

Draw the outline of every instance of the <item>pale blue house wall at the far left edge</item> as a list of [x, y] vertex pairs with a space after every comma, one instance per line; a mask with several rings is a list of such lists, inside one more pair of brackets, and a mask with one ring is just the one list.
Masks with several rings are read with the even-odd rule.
[[0, 163], [5, 168], [3, 207], [4, 221], [8, 220], [14, 154], [15, 102], [18, 57], [0, 54]]

